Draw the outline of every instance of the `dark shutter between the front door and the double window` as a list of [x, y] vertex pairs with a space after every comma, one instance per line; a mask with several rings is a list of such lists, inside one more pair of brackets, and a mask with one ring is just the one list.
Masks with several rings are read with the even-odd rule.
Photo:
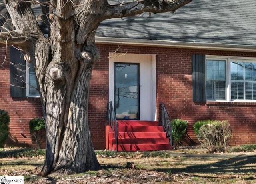
[[193, 102], [205, 102], [205, 55], [192, 55]]

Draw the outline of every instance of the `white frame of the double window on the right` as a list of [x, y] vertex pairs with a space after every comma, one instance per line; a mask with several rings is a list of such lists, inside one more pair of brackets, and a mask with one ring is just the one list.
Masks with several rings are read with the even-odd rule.
[[[206, 70], [206, 60], [226, 60], [226, 100], [207, 100], [208, 102], [256, 102], [256, 100], [242, 100], [242, 99], [237, 99], [237, 100], [231, 100], [231, 68], [230, 68], [230, 63], [231, 61], [240, 61], [240, 62], [253, 62], [256, 63], [256, 58], [252, 57], [234, 57], [234, 56], [213, 56], [213, 55], [206, 55], [205, 57], [205, 72]], [[206, 89], [206, 78], [207, 74], [205, 74], [205, 89]], [[207, 92], [207, 89], [205, 90], [205, 93]], [[207, 94], [206, 94], [207, 96]]]

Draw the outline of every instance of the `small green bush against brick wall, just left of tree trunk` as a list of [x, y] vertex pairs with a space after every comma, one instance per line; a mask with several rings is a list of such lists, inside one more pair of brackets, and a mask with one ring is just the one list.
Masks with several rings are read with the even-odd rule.
[[44, 118], [34, 118], [29, 122], [29, 130], [32, 141], [36, 141], [38, 147], [45, 141], [45, 122]]

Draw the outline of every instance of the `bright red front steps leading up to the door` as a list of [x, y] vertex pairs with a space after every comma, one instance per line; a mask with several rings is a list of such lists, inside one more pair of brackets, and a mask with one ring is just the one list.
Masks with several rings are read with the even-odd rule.
[[171, 150], [172, 146], [163, 127], [156, 121], [118, 120], [118, 144], [113, 130], [106, 126], [106, 149], [153, 151]]

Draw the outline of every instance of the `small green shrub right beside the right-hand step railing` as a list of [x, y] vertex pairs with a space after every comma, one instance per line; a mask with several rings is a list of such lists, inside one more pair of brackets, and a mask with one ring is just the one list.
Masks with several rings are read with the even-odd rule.
[[171, 123], [172, 123], [172, 137], [174, 139], [174, 145], [177, 145], [180, 143], [180, 141], [182, 140], [182, 138], [187, 132], [188, 121], [174, 119], [171, 121]]

